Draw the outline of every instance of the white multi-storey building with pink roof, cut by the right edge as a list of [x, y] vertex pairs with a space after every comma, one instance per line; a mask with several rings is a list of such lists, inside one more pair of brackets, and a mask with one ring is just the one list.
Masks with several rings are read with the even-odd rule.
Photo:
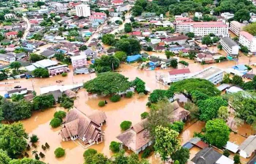
[[256, 53], [256, 36], [253, 36], [246, 31], [241, 31], [239, 43], [242, 44], [242, 46], [247, 47], [253, 54]]

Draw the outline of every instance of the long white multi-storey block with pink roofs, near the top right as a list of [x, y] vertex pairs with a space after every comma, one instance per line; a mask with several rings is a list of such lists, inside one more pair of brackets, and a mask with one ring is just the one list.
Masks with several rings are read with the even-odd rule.
[[213, 33], [216, 36], [225, 37], [228, 35], [229, 26], [225, 21], [179, 22], [176, 24], [176, 31], [179, 33], [193, 32], [195, 36], [205, 36]]

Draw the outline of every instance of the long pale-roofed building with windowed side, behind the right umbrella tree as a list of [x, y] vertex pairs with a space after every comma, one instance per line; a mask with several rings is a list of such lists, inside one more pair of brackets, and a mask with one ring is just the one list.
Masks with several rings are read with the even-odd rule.
[[223, 80], [223, 72], [218, 67], [211, 66], [193, 74], [191, 78], [206, 79], [216, 85]]

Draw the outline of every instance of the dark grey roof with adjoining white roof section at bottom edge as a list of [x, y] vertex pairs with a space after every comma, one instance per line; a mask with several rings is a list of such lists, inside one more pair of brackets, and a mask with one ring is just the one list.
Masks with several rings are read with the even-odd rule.
[[233, 160], [215, 151], [212, 147], [202, 149], [191, 161], [193, 164], [234, 164]]

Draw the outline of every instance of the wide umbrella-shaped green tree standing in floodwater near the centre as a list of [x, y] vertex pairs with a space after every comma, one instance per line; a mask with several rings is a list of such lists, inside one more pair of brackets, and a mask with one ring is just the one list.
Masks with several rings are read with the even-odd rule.
[[[115, 80], [113, 80], [115, 79]], [[97, 74], [97, 77], [84, 83], [83, 87], [91, 93], [111, 95], [127, 91], [131, 86], [128, 78], [114, 72]]]

